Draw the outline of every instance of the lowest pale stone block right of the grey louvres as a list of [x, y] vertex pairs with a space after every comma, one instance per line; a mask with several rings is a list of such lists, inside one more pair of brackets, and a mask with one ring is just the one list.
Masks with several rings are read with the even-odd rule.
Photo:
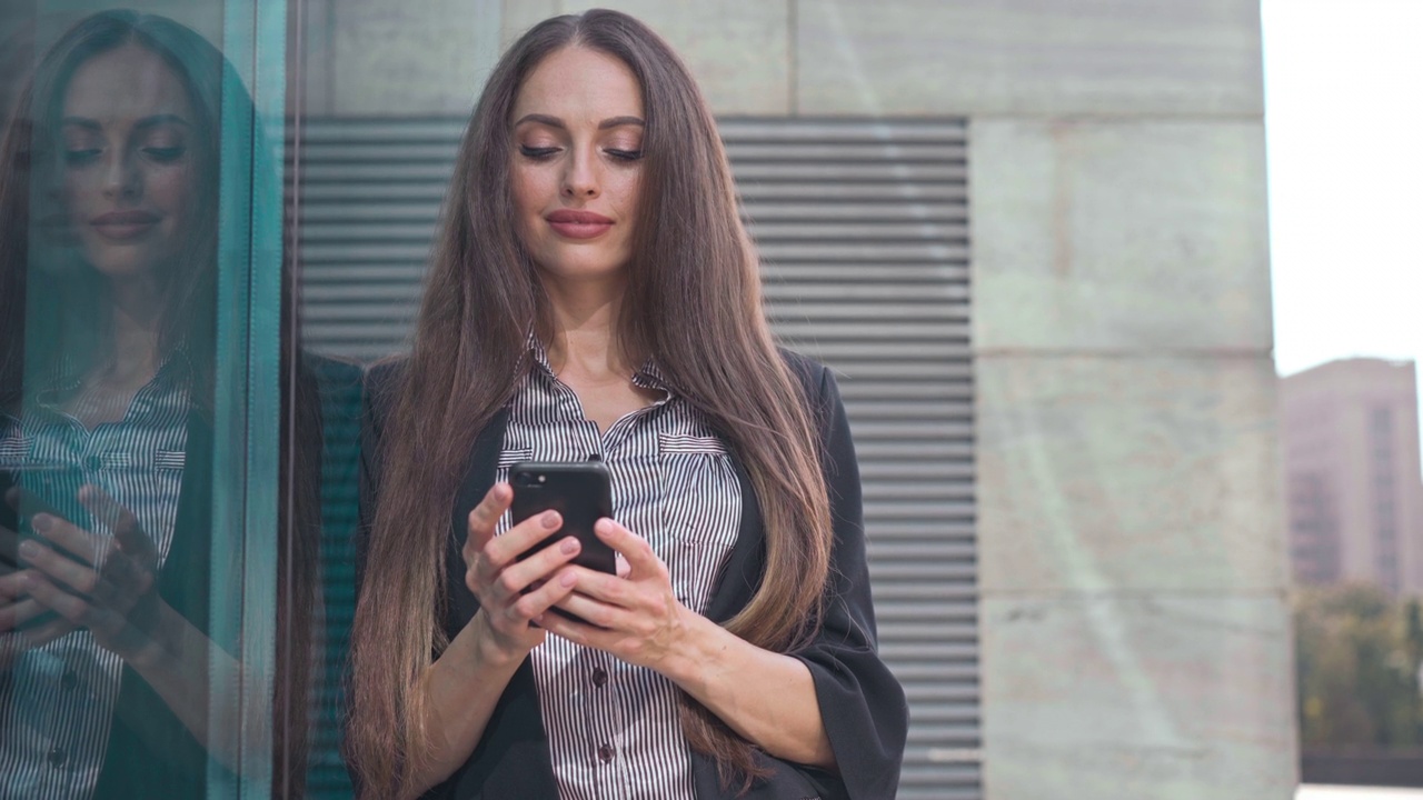
[[1281, 595], [982, 604], [988, 800], [1289, 800]]

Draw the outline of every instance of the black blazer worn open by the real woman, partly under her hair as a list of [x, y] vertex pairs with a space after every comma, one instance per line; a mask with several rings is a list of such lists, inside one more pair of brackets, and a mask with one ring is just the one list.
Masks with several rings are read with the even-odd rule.
[[[824, 446], [824, 471], [830, 488], [835, 542], [831, 562], [830, 602], [815, 642], [791, 653], [810, 668], [815, 683], [820, 713], [835, 752], [840, 776], [793, 764], [764, 753], [758, 757], [774, 767], [774, 774], [758, 781], [744, 799], [888, 799], [899, 783], [908, 730], [908, 706], [904, 689], [879, 659], [875, 643], [875, 618], [869, 598], [865, 564], [865, 537], [859, 493], [859, 468], [855, 461], [850, 424], [840, 391], [830, 370], [785, 353], [793, 372], [800, 376], [810, 399]], [[363, 537], [369, 535], [370, 498], [380, 483], [381, 430], [404, 376], [404, 362], [370, 370], [367, 379], [366, 447], [363, 456]], [[464, 585], [461, 547], [465, 517], [494, 485], [499, 450], [508, 414], [497, 414], [477, 436], [455, 504], [451, 508], [447, 589], [450, 611], [445, 632], [454, 638], [478, 611], [478, 601]], [[733, 458], [734, 460], [734, 458]], [[766, 540], [760, 507], [746, 470], [736, 464], [741, 480], [741, 524], [726, 568], [717, 578], [706, 616], [724, 622], [750, 599], [764, 571]], [[364, 552], [361, 542], [360, 551]], [[736, 789], [723, 789], [716, 763], [692, 754], [697, 797], [731, 799]], [[558, 790], [549, 757], [548, 736], [539, 716], [538, 692], [529, 660], [515, 672], [494, 709], [484, 737], [470, 759], [448, 780], [431, 789], [427, 797], [448, 799], [551, 799]]]

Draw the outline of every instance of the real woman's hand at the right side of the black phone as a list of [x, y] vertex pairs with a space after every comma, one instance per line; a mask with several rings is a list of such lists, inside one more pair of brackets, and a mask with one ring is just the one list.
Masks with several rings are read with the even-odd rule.
[[545, 614], [539, 625], [573, 643], [666, 672], [669, 656], [686, 652], [693, 612], [677, 601], [667, 567], [646, 540], [608, 518], [593, 532], [628, 562], [626, 575], [575, 568], [578, 582], [558, 608], [589, 623]]

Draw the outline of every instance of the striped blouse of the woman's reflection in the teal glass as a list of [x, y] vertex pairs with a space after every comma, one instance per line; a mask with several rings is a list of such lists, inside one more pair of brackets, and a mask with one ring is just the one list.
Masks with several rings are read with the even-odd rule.
[[[188, 438], [189, 370], [169, 359], [118, 423], [85, 428], [61, 410], [73, 381], [38, 396], [17, 420], [0, 413], [0, 470], [70, 521], [111, 535], [75, 500], [84, 484], [138, 518], [166, 558], [178, 514]], [[108, 746], [122, 660], [84, 629], [26, 651], [0, 679], [0, 796], [83, 800]]]

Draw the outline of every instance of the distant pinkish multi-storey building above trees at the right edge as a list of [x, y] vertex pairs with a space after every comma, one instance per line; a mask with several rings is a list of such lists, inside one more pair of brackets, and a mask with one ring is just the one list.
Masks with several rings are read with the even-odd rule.
[[1423, 594], [1413, 362], [1346, 359], [1281, 379], [1295, 579]]

